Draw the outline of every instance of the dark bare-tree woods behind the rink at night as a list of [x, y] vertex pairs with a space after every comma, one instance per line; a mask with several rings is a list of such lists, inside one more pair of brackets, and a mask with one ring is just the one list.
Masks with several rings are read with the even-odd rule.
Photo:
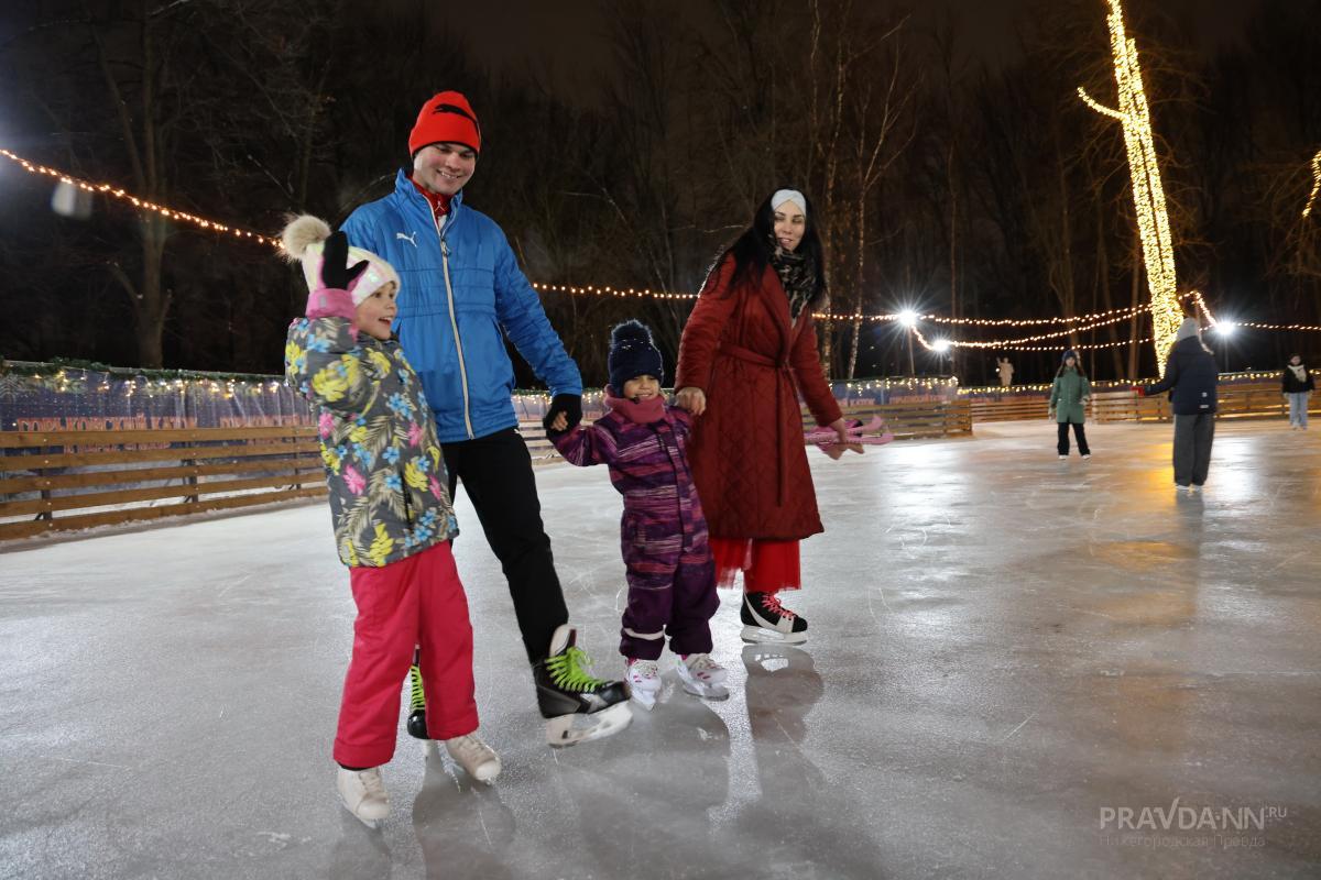
[[[967, 50], [952, 11], [602, 3], [580, 22], [609, 71], [589, 92], [532, 66], [494, 71], [428, 0], [16, 5], [0, 13], [0, 145], [260, 232], [289, 211], [338, 222], [387, 193], [417, 107], [458, 88], [485, 136], [465, 198], [532, 280], [696, 290], [753, 207], [798, 185], [818, 207], [834, 311], [1032, 318], [1147, 297], [1119, 125], [1074, 91], [1112, 102], [1102, 0], [1011, 4], [1017, 36], [995, 59]], [[1221, 317], [1321, 323], [1321, 220], [1300, 218], [1321, 148], [1321, 0], [1232, 5], [1234, 33], [1214, 46], [1188, 21], [1214, 8], [1127, 7], [1181, 286]], [[59, 216], [52, 189], [0, 162], [0, 354], [279, 372], [305, 290], [271, 249], [103, 198], [87, 219]], [[672, 367], [690, 309], [543, 301], [588, 384], [630, 315]], [[1124, 322], [1075, 342], [1131, 335]], [[1229, 363], [1279, 367], [1321, 354], [1318, 339], [1246, 334]], [[836, 377], [908, 368], [893, 325], [835, 323], [823, 354]], [[996, 354], [951, 364], [919, 350], [917, 368], [982, 384]], [[1024, 381], [1058, 358], [1008, 354]], [[1149, 346], [1086, 364], [1102, 379], [1155, 373]]]

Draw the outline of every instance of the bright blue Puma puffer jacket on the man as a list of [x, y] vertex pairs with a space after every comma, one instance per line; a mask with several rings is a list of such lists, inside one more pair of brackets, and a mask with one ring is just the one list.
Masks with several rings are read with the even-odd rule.
[[[355, 210], [349, 241], [399, 273], [395, 332], [421, 377], [441, 443], [518, 424], [514, 365], [501, 330], [552, 394], [581, 394], [583, 377], [518, 268], [505, 232], [454, 197], [437, 232], [427, 199], [403, 172], [395, 191]], [[457, 336], [457, 340], [456, 340]]]

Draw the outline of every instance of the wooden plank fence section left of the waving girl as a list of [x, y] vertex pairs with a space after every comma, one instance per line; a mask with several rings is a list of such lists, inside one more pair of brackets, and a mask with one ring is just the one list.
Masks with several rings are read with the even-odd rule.
[[[0, 501], [0, 541], [325, 495], [316, 434], [312, 426], [0, 431], [0, 497], [34, 496]], [[170, 503], [155, 504], [162, 500]]]

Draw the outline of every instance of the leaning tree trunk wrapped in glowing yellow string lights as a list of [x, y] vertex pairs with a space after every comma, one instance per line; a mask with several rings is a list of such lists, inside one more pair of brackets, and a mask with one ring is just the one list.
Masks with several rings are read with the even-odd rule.
[[1165, 355], [1174, 344], [1174, 334], [1184, 318], [1174, 294], [1177, 280], [1169, 212], [1165, 210], [1165, 190], [1156, 161], [1151, 108], [1143, 86], [1143, 71], [1137, 63], [1137, 42], [1124, 36], [1124, 11], [1120, 0], [1110, 0], [1106, 22], [1110, 26], [1119, 110], [1111, 110], [1092, 100], [1082, 87], [1078, 88], [1078, 95], [1098, 113], [1119, 120], [1124, 129], [1128, 172], [1133, 182], [1133, 204], [1137, 210], [1137, 230], [1147, 267], [1147, 286], [1151, 290], [1156, 363], [1164, 376]]

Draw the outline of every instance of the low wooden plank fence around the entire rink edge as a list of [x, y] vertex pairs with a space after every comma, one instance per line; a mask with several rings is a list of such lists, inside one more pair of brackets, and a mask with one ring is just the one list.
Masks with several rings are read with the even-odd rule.
[[[849, 418], [878, 416], [896, 438], [970, 435], [989, 421], [1045, 420], [1048, 394], [851, 404]], [[1098, 391], [1089, 420], [1169, 421], [1165, 394]], [[1310, 412], [1321, 412], [1313, 396]], [[1221, 420], [1283, 418], [1276, 383], [1226, 384]], [[804, 430], [811, 417], [803, 414]], [[532, 460], [561, 460], [540, 422], [519, 425]], [[324, 496], [313, 426], [120, 431], [0, 431], [0, 541], [48, 532], [147, 521]], [[160, 504], [160, 501], [168, 501]]]

